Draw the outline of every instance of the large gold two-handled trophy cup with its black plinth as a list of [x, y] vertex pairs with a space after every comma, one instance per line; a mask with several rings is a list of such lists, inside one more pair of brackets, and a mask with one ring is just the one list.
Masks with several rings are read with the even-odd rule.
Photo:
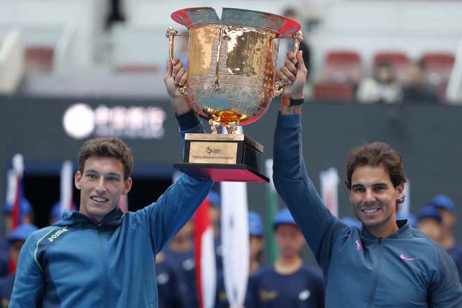
[[[268, 182], [259, 168], [263, 146], [236, 130], [259, 119], [282, 93], [284, 84], [275, 77], [279, 39], [293, 39], [296, 52], [303, 39], [300, 24], [237, 8], [223, 8], [221, 19], [211, 7], [178, 10], [172, 18], [188, 34], [168, 28], [170, 59], [175, 36], [189, 36], [188, 81], [178, 90], [212, 130], [187, 133], [184, 162], [174, 167], [214, 181]], [[219, 126], [228, 133], [217, 133]]]

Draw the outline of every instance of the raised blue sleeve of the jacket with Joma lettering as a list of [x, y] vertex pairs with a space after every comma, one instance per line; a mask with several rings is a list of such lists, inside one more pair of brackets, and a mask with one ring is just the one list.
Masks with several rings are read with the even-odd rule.
[[[202, 123], [180, 131], [184, 140], [187, 132], [203, 132]], [[158, 253], [170, 238], [192, 217], [207, 196], [213, 182], [183, 174], [159, 199], [135, 213], [150, 234], [154, 253]]]

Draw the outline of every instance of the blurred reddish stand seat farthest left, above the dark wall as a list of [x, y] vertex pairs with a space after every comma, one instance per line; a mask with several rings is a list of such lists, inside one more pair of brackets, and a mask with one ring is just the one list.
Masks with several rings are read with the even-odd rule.
[[27, 46], [26, 71], [51, 72], [53, 70], [54, 53], [55, 48], [52, 46]]

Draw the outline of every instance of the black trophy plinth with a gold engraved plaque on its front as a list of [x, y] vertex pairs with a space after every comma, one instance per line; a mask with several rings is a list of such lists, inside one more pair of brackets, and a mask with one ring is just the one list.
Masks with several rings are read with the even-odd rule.
[[244, 134], [187, 133], [182, 172], [214, 181], [266, 183], [259, 161], [263, 145]]

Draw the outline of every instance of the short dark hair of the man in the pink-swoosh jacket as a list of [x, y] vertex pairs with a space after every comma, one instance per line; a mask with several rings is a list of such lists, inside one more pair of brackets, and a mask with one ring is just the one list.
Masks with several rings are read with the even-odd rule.
[[[346, 164], [346, 188], [351, 189], [351, 175], [357, 166], [383, 166], [390, 176], [390, 181], [396, 188], [406, 182], [404, 169], [402, 167], [401, 154], [384, 142], [372, 142], [353, 148], [348, 154]], [[397, 200], [400, 204], [404, 202], [404, 196]]]

